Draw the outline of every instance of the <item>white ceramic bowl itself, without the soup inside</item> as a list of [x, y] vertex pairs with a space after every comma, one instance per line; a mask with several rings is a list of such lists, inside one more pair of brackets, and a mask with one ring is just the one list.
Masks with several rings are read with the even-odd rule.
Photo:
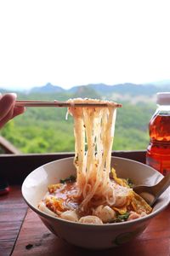
[[[135, 184], [153, 185], [162, 178], [161, 173], [156, 172], [150, 166], [133, 160], [113, 157], [111, 166], [116, 169], [118, 177], [129, 177]], [[130, 241], [133, 237], [142, 233], [149, 225], [150, 220], [167, 207], [169, 203], [170, 189], [167, 189], [156, 201], [153, 212], [146, 217], [124, 223], [103, 225], [74, 223], [41, 212], [37, 205], [47, 193], [48, 184], [59, 183], [61, 178], [69, 177], [74, 173], [76, 173], [76, 170], [72, 157], [49, 162], [38, 167], [26, 177], [22, 185], [22, 195], [28, 206], [34, 212], [37, 212], [49, 230], [56, 236], [78, 247], [105, 249]]]

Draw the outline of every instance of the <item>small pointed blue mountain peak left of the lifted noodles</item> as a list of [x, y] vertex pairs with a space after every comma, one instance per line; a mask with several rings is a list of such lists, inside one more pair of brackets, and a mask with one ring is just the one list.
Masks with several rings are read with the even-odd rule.
[[33, 87], [30, 90], [30, 93], [54, 93], [54, 92], [64, 92], [65, 90], [57, 85], [53, 85], [53, 84], [46, 84], [44, 86], [40, 86], [40, 87]]

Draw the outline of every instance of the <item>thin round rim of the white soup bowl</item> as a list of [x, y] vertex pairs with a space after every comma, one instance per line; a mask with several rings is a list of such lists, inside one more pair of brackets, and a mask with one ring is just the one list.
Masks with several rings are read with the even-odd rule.
[[[111, 156], [111, 159], [114, 158], [114, 159], [119, 159], [119, 160], [127, 160], [127, 161], [130, 161], [130, 162], [134, 162], [134, 163], [137, 163], [139, 165], [143, 165], [143, 166], [147, 166], [145, 165], [144, 163], [141, 163], [139, 161], [136, 161], [136, 160], [131, 160], [131, 159], [126, 159], [126, 158], [122, 158], [122, 157], [118, 157], [118, 156]], [[42, 166], [38, 166], [36, 169], [34, 169], [32, 172], [37, 172], [38, 169], [44, 167], [44, 166], [48, 166], [48, 165], [53, 165], [55, 162], [59, 162], [59, 161], [62, 161], [62, 160], [73, 160], [74, 159], [74, 156], [71, 156], [71, 157], [66, 157], [66, 158], [62, 158], [62, 159], [59, 159], [59, 160], [53, 160], [53, 161], [50, 161]], [[156, 171], [154, 168], [150, 167], [150, 166], [147, 166], [147, 168], [150, 168], [152, 171], [156, 172], [160, 177], [163, 177], [163, 175], [161, 174], [161, 172], [158, 172]], [[31, 176], [32, 172], [30, 172], [27, 176]], [[55, 216], [52, 216], [52, 215], [49, 215], [48, 213], [46, 212], [42, 212], [41, 210], [39, 210], [38, 207], [34, 207], [29, 201], [26, 200], [26, 197], [24, 195], [24, 185], [26, 183], [26, 178], [24, 180], [24, 182], [22, 183], [22, 186], [21, 186], [21, 193], [22, 193], [22, 196], [24, 198], [24, 200], [26, 201], [26, 204], [34, 211], [37, 213], [37, 215], [40, 215], [42, 218], [48, 218], [48, 219], [52, 219], [54, 221], [59, 221], [63, 224], [69, 224], [69, 225], [79, 225], [79, 226], [85, 226], [85, 227], [96, 227], [97, 229], [108, 229], [109, 227], [121, 227], [121, 226], [131, 226], [133, 224], [138, 224], [138, 223], [142, 223], [142, 222], [145, 222], [146, 220], [150, 220], [150, 218], [153, 218], [155, 217], [157, 214], [159, 214], [160, 212], [162, 212], [169, 204], [170, 202], [170, 197], [168, 197], [168, 200], [166, 203], [164, 203], [164, 205], [158, 209], [156, 209], [155, 212], [150, 212], [150, 214], [142, 217], [142, 218], [135, 218], [133, 220], [130, 220], [130, 221], [125, 221], [125, 222], [120, 222], [120, 223], [108, 223], [108, 224], [84, 224], [84, 223], [79, 223], [79, 222], [73, 222], [73, 221], [69, 221], [69, 220], [66, 220], [64, 218], [59, 218], [59, 217], [55, 217]], [[170, 190], [170, 188], [167, 188], [168, 190]]]

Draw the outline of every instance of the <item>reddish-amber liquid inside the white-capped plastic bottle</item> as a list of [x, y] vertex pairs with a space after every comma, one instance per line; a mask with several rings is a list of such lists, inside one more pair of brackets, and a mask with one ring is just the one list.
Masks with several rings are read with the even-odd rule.
[[146, 164], [163, 175], [170, 172], [170, 113], [156, 113], [150, 120]]

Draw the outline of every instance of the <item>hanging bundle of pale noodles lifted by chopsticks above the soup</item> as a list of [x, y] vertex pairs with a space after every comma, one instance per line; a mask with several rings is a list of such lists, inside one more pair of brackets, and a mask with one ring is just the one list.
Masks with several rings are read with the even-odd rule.
[[111, 184], [111, 149], [116, 123], [116, 107], [75, 108], [74, 102], [102, 102], [92, 99], [70, 100], [68, 112], [74, 118], [75, 166], [77, 168], [78, 197], [82, 211], [90, 206], [113, 206], [116, 201]]

